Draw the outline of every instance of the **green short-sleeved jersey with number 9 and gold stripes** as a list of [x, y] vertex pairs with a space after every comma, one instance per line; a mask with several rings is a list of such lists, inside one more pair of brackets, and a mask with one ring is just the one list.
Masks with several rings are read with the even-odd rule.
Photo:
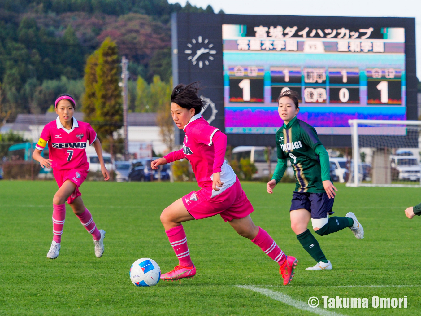
[[290, 160], [297, 180], [296, 191], [325, 192], [320, 159], [314, 151], [321, 144], [314, 127], [296, 117], [276, 132], [278, 159]]

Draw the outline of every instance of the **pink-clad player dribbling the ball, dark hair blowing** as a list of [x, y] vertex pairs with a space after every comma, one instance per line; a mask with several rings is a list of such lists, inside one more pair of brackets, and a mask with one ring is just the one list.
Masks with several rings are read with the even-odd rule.
[[224, 160], [226, 135], [209, 125], [200, 114], [204, 104], [197, 96], [195, 83], [179, 84], [171, 94], [171, 115], [179, 129], [186, 132], [183, 148], [152, 161], [152, 169], [182, 158], [192, 164], [200, 187], [179, 198], [161, 214], [161, 222], [171, 246], [179, 259], [174, 270], [161, 275], [163, 280], [178, 280], [195, 276], [196, 267], [190, 259], [187, 237], [181, 222], [221, 215], [222, 219], [241, 236], [249, 238], [280, 266], [284, 285], [290, 283], [296, 258], [286, 256], [262, 228], [254, 225], [248, 201], [240, 180]]

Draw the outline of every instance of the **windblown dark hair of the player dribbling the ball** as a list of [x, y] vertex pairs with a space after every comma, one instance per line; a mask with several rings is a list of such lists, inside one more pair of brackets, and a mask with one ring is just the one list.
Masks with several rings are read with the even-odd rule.
[[187, 86], [180, 83], [173, 89], [171, 94], [171, 102], [178, 104], [180, 107], [184, 107], [187, 110], [195, 109], [195, 114], [205, 107], [203, 100], [197, 96], [197, 91], [200, 88], [196, 85], [199, 81], [188, 84]]

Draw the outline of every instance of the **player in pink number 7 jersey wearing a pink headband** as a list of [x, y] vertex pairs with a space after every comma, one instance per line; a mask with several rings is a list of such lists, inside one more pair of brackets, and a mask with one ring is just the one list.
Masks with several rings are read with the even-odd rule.
[[[42, 167], [53, 168], [54, 178], [59, 185], [59, 190], [53, 198], [53, 241], [47, 258], [56, 259], [59, 256], [61, 234], [66, 217], [66, 206], [64, 204], [66, 201], [82, 225], [92, 234], [95, 255], [99, 258], [104, 253], [105, 231], [96, 228], [91, 213], [83, 204], [79, 187], [86, 179], [89, 171], [85, 151], [86, 142], [95, 147], [104, 180], [109, 179], [109, 171], [105, 168], [102, 158], [101, 142], [96, 138], [96, 132], [91, 125], [78, 122], [73, 117], [76, 103], [72, 96], [68, 94], [59, 96], [55, 106], [56, 113], [59, 116], [55, 121], [45, 125], [32, 155]], [[41, 152], [47, 143], [50, 159], [41, 156]]]

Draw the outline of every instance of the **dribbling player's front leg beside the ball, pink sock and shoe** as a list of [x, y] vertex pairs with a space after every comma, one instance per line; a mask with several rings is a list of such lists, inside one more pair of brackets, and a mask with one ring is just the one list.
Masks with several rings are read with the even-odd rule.
[[181, 198], [165, 208], [161, 213], [160, 218], [164, 225], [168, 240], [170, 241], [176, 256], [179, 258], [179, 265], [176, 265], [173, 270], [161, 274], [161, 279], [174, 281], [194, 277], [196, 275], [196, 267], [190, 259], [187, 237], [181, 223], [194, 220], [195, 218], [187, 212]]

